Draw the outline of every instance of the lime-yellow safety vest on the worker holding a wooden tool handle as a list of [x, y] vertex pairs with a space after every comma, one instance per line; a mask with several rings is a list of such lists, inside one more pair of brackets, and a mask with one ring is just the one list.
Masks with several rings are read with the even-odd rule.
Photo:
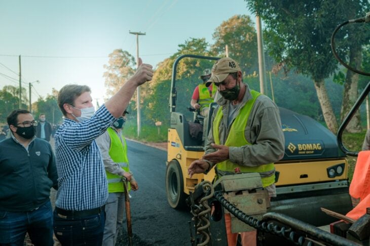
[[[107, 132], [110, 137], [110, 147], [109, 147], [109, 156], [112, 159], [112, 161], [118, 163], [123, 170], [126, 172], [129, 172], [129, 164], [128, 164], [128, 158], [127, 158], [127, 145], [126, 145], [126, 139], [122, 136], [123, 142], [125, 145], [122, 144], [120, 137], [117, 135], [116, 130], [108, 127]], [[123, 192], [123, 182], [122, 182], [122, 176], [117, 174], [112, 174], [107, 171], [106, 178], [108, 181], [108, 192]], [[130, 183], [128, 185], [130, 189]]]

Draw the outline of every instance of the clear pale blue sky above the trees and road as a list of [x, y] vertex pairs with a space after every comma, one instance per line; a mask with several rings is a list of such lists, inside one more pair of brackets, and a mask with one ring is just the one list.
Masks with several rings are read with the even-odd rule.
[[[117, 48], [154, 67], [190, 38], [212, 43], [217, 26], [250, 15], [244, 0], [0, 0], [0, 89], [32, 83], [32, 101], [66, 84], [87, 84], [103, 102], [104, 64]], [[255, 19], [251, 16], [252, 20]], [[39, 82], [34, 82], [39, 81]]]

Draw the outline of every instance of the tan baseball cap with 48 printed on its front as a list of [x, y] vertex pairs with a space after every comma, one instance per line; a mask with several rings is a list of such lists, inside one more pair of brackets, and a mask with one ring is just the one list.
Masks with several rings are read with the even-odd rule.
[[211, 78], [206, 82], [206, 86], [211, 83], [224, 81], [230, 73], [241, 71], [237, 62], [229, 57], [221, 58], [212, 67]]

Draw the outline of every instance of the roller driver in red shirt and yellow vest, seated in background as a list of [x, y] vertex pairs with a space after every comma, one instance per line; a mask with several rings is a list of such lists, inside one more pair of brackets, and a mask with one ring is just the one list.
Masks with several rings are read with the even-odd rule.
[[207, 117], [209, 113], [209, 105], [213, 103], [214, 94], [217, 91], [216, 86], [210, 84], [209, 86], [205, 85], [205, 82], [211, 77], [211, 71], [209, 69], [205, 69], [203, 71], [203, 75], [200, 78], [203, 80], [203, 83], [197, 85], [195, 87], [192, 100], [190, 101], [190, 105], [194, 109], [199, 109], [200, 115], [203, 117]]

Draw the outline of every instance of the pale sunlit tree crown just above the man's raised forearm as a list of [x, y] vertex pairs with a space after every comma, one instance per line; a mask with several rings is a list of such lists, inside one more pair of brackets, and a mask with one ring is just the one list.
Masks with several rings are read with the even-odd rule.
[[136, 63], [134, 57], [122, 49], [114, 50], [108, 57], [108, 65], [104, 65], [107, 71], [103, 77], [107, 95], [113, 95], [135, 73]]

